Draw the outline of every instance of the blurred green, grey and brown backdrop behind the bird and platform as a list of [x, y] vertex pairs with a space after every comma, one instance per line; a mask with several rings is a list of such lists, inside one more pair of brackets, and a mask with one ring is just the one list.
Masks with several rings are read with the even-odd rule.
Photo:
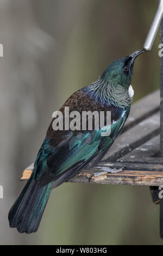
[[[148, 187], [67, 183], [52, 191], [36, 234], [18, 234], [7, 219], [52, 113], [113, 60], [143, 47], [157, 2], [0, 0], [1, 244], [163, 244]], [[159, 35], [135, 62], [135, 101], [159, 88], [158, 45]]]

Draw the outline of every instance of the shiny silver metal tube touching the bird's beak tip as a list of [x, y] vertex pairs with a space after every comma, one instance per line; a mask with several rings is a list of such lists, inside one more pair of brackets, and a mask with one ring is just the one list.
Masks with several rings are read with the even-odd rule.
[[147, 38], [144, 44], [144, 49], [146, 51], [151, 51], [152, 49], [152, 45], [153, 45], [155, 36], [158, 32], [162, 17], [163, 17], [163, 0], [160, 0], [158, 5], [158, 10], [156, 11], [154, 20], [152, 22], [151, 28], [149, 29], [149, 33], [147, 35]]

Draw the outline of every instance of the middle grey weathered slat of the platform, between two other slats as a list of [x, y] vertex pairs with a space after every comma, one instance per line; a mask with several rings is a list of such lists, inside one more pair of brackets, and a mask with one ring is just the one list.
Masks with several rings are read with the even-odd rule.
[[114, 162], [160, 132], [160, 113], [151, 115], [116, 139], [102, 161]]

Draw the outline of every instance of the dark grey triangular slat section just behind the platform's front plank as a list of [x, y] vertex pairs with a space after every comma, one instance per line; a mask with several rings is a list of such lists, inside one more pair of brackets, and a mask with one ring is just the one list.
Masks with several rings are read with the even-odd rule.
[[150, 139], [140, 147], [134, 149], [127, 155], [124, 155], [118, 162], [130, 163], [160, 163], [163, 164], [163, 159], [160, 157], [160, 135]]

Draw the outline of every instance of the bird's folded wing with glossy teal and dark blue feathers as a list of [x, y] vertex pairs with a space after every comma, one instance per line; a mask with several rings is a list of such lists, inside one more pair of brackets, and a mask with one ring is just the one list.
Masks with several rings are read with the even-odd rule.
[[[68, 106], [71, 106], [68, 102]], [[79, 106], [79, 102], [78, 102]], [[73, 106], [74, 110], [74, 106]], [[101, 151], [110, 148], [126, 121], [128, 112], [114, 106], [111, 111], [111, 133], [102, 137], [98, 131], [54, 131], [52, 124], [35, 161], [35, 179], [41, 186], [54, 181], [54, 187], [70, 179], [87, 166]], [[110, 127], [105, 127], [109, 129]]]

